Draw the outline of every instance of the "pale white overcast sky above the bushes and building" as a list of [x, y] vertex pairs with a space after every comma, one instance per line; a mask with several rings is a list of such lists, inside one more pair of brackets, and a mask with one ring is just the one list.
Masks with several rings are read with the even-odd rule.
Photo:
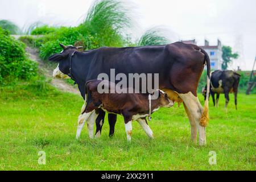
[[[169, 28], [175, 42], [195, 38], [199, 46], [220, 39], [241, 55], [237, 65], [251, 70], [256, 56], [255, 0], [127, 0], [134, 13], [134, 39], [153, 26]], [[92, 0], [9, 0], [0, 2], [0, 19], [23, 28], [38, 20], [55, 25], [76, 26], [85, 16]]]

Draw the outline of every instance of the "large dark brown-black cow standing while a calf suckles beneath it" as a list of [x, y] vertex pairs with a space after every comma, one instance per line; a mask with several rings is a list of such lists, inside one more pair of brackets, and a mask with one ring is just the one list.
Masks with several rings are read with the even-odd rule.
[[[159, 89], [166, 92], [174, 103], [183, 102], [191, 124], [191, 139], [196, 142], [198, 130], [199, 144], [206, 144], [205, 127], [209, 121], [208, 99], [203, 108], [196, 93], [206, 64], [207, 98], [209, 97], [210, 60], [204, 49], [181, 42], [163, 46], [101, 47], [88, 52], [78, 52], [73, 46], [62, 44], [60, 46], [63, 47], [63, 52], [49, 57], [49, 61], [59, 63], [55, 76], [58, 73], [69, 75], [77, 82], [84, 99], [85, 83], [96, 79], [100, 73], [106, 73], [110, 77], [110, 69], [115, 69], [116, 74], [122, 73], [127, 77], [129, 73], [139, 75], [158, 73]], [[86, 102], [82, 106], [81, 113], [85, 105]], [[91, 113], [87, 122], [90, 137], [93, 137], [93, 125], [97, 116], [98, 113]], [[83, 125], [84, 123], [79, 123], [77, 134], [80, 134]]]

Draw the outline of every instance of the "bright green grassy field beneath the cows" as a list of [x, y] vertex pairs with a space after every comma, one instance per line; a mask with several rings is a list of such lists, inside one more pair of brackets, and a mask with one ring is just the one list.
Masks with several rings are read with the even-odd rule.
[[[127, 143], [118, 117], [112, 139], [106, 120], [100, 139], [89, 139], [85, 126], [77, 141], [77, 116], [83, 104], [80, 96], [38, 83], [0, 88], [0, 93], [1, 170], [256, 169], [255, 94], [239, 94], [237, 111], [232, 95], [227, 110], [223, 95], [219, 108], [210, 101], [208, 144], [199, 147], [189, 141], [190, 126], [183, 106], [160, 109], [152, 115], [149, 125], [154, 140], [134, 122], [132, 142]], [[38, 164], [39, 151], [46, 152], [46, 165]], [[216, 165], [208, 162], [210, 151], [217, 154]]]

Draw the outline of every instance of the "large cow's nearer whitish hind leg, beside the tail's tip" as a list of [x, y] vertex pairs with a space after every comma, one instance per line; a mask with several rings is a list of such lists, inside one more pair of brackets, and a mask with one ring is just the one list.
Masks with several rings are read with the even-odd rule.
[[199, 145], [203, 146], [206, 144], [205, 127], [200, 125], [200, 119], [203, 114], [203, 107], [201, 106], [199, 99], [194, 96], [191, 92], [187, 94], [179, 94], [181, 99], [187, 106], [189, 115], [194, 122], [199, 133]]

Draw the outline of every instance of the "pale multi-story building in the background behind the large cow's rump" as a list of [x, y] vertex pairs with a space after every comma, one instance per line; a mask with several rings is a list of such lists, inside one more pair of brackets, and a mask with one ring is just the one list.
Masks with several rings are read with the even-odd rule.
[[[185, 44], [195, 44], [196, 40], [181, 40]], [[221, 69], [222, 64], [222, 46], [220, 40], [218, 40], [217, 46], [209, 46], [208, 40], [204, 40], [204, 46], [199, 46], [203, 48], [210, 57], [210, 68], [213, 70]]]

